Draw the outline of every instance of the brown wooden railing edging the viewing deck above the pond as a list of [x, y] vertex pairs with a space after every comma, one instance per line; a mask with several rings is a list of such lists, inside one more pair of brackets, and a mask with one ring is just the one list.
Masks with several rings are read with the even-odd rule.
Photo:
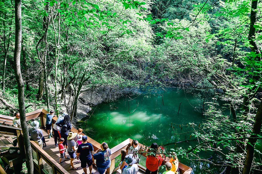
[[[47, 113], [48, 111], [46, 111], [45, 109], [39, 109], [33, 112], [29, 112], [29, 113], [26, 113], [26, 120], [28, 121], [28, 120], [40, 117], [41, 127], [45, 127], [45, 119], [46, 119]], [[13, 118], [14, 117], [0, 115], [0, 119], [7, 121], [6, 122], [7, 125], [12, 125], [12, 123], [10, 122], [13, 120]], [[54, 124], [56, 120], [57, 120], [57, 117], [53, 117], [52, 124]], [[73, 127], [70, 131], [74, 133], [78, 132], [78, 130]], [[85, 134], [82, 134], [82, 135], [85, 135]], [[88, 137], [88, 142], [93, 145], [94, 151], [100, 148], [101, 143], [95, 141], [94, 139], [90, 138], [89, 136], [87, 137]], [[114, 171], [116, 171], [117, 169], [119, 169], [119, 166], [116, 165], [119, 163], [119, 161], [116, 161], [115, 159], [119, 157], [119, 155], [121, 155], [122, 149], [128, 149], [131, 146], [132, 141], [133, 140], [129, 138], [123, 141], [122, 143], [118, 144], [117, 146], [111, 148], [111, 155], [110, 155], [111, 165], [106, 171], [107, 174], [111, 174]], [[36, 171], [38, 171], [38, 173], [44, 173], [46, 170], [50, 170], [50, 171], [52, 170], [51, 173], [68, 174], [68, 172], [63, 167], [61, 167], [61, 165], [59, 165], [53, 158], [51, 158], [50, 155], [48, 155], [43, 149], [41, 149], [34, 141], [30, 141], [30, 142], [31, 142], [32, 153], [33, 153], [33, 158], [34, 158], [34, 168]], [[142, 145], [141, 143], [139, 143], [139, 146], [144, 147], [144, 148], [146, 147]], [[146, 153], [142, 153], [141, 155], [144, 157], [144, 160], [145, 160]], [[166, 158], [163, 163], [168, 162], [168, 160], [169, 159]], [[145, 164], [145, 161], [143, 164]], [[191, 167], [188, 167], [182, 163], [179, 163], [178, 167], [179, 167], [181, 174], [183, 173], [190, 174], [192, 171]], [[144, 171], [146, 170], [145, 165], [139, 165], [139, 168]]]

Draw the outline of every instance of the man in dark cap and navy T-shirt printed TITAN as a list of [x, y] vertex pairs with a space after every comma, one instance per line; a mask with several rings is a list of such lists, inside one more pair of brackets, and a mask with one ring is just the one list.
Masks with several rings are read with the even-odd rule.
[[94, 148], [93, 148], [91, 143], [87, 142], [87, 136], [86, 135], [83, 135], [82, 142], [83, 143], [80, 144], [78, 146], [78, 149], [77, 149], [77, 158], [79, 157], [79, 159], [81, 161], [81, 167], [84, 170], [83, 174], [87, 174], [86, 164], [89, 167], [90, 174], [93, 174], [94, 172], [92, 172], [92, 169], [93, 169], [92, 156], [93, 156]]

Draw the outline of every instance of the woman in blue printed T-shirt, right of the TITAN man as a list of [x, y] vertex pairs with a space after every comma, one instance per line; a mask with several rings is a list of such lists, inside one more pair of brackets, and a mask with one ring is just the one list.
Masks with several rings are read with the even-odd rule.
[[96, 159], [96, 167], [100, 174], [103, 174], [106, 172], [106, 169], [108, 169], [111, 165], [111, 150], [108, 148], [108, 145], [106, 142], [102, 142], [100, 145], [101, 149], [97, 149], [94, 153], [94, 159]]

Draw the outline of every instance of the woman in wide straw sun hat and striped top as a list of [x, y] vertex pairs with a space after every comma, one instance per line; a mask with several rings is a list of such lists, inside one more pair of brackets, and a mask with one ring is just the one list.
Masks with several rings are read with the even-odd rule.
[[77, 143], [74, 141], [74, 137], [77, 135], [77, 133], [69, 132], [67, 136], [67, 151], [68, 154], [70, 155], [70, 164], [73, 170], [77, 170], [78, 167], [74, 167], [74, 159], [76, 157], [75, 152], [77, 151]]

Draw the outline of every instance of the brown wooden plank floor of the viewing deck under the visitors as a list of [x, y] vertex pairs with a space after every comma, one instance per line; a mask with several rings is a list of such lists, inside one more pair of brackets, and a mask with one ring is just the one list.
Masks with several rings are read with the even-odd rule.
[[[60, 153], [59, 153], [59, 149], [58, 147], [54, 147], [54, 138], [51, 137], [50, 139], [48, 139], [48, 134], [47, 131], [45, 129], [42, 129], [43, 135], [45, 137], [46, 140], [46, 147], [43, 147], [43, 150], [48, 153], [54, 160], [56, 160], [57, 162], [59, 162], [59, 158], [60, 158]], [[67, 155], [67, 157], [70, 157], [68, 155], [68, 153], [66, 152], [65, 155]], [[78, 170], [73, 170], [71, 169], [71, 165], [70, 165], [70, 160], [64, 160], [62, 159], [62, 161], [64, 161], [64, 163], [61, 165], [65, 170], [67, 170], [69, 173], [71, 174], [82, 174], [83, 168], [80, 167], [80, 163], [79, 164], [74, 164], [75, 167], [78, 167]], [[75, 159], [73, 162], [78, 161], [77, 159]], [[89, 169], [87, 167], [87, 172], [89, 173]], [[99, 172], [97, 171], [96, 166], [93, 164], [93, 170], [92, 172], [94, 172], [94, 174], [99, 174]], [[115, 174], [120, 174], [121, 170], [118, 169]], [[139, 169], [138, 174], [144, 174], [145, 172], [141, 169]]]

